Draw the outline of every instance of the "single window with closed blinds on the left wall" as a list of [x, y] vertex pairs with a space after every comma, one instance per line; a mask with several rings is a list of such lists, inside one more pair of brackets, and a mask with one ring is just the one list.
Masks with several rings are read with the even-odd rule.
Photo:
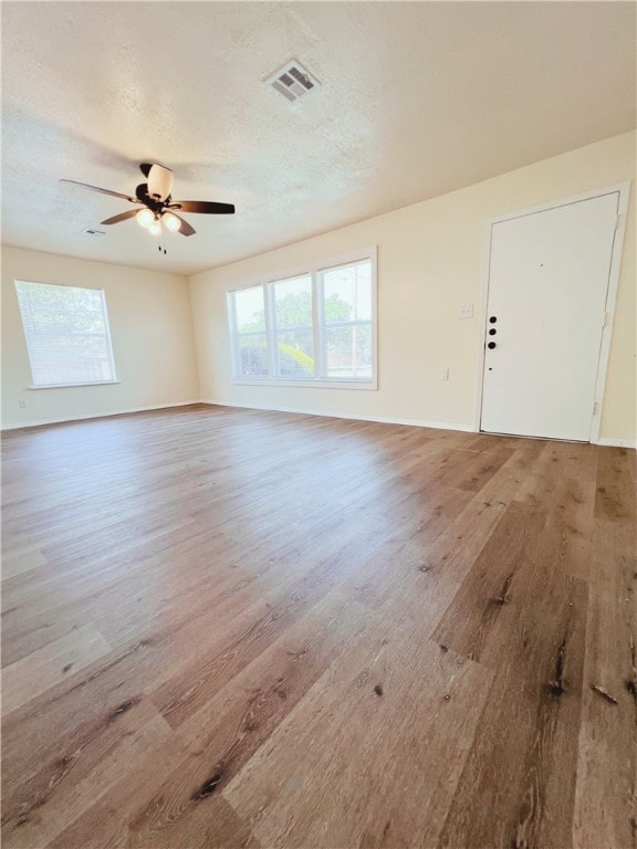
[[115, 381], [100, 289], [15, 281], [34, 387]]

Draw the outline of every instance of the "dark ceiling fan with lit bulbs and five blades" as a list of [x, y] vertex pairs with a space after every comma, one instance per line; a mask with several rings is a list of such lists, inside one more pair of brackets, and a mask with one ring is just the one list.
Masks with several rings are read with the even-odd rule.
[[101, 223], [117, 224], [119, 221], [135, 217], [138, 223], [153, 235], [161, 233], [161, 226], [171, 233], [181, 233], [181, 235], [192, 235], [197, 232], [188, 221], [177, 214], [178, 212], [202, 212], [213, 216], [228, 216], [234, 212], [233, 203], [217, 203], [210, 200], [173, 200], [170, 192], [173, 191], [174, 174], [170, 168], [165, 168], [156, 163], [142, 163], [139, 168], [147, 181], [137, 186], [135, 197], [122, 195], [119, 191], [111, 191], [111, 189], [101, 189], [98, 186], [90, 186], [87, 182], [77, 182], [77, 180], [60, 180], [60, 182], [72, 182], [74, 186], [83, 186], [85, 189], [101, 191], [103, 195], [112, 195], [114, 198], [122, 198], [135, 203], [137, 209], [119, 212], [118, 216], [112, 216]]

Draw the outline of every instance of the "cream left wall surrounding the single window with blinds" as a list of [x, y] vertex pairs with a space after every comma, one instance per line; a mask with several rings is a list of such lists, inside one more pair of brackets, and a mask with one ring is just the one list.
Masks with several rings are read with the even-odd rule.
[[[29, 389], [14, 280], [103, 289], [118, 384]], [[199, 398], [188, 282], [176, 274], [2, 250], [2, 427], [124, 412]], [[27, 402], [21, 409], [20, 401]]]

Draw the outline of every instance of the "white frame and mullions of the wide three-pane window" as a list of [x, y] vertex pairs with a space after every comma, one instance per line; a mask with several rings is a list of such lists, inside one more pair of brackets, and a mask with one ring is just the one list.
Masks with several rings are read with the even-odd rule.
[[[275, 374], [275, 353], [272, 350], [273, 346], [269, 346], [269, 363], [268, 368], [270, 370], [269, 377], [242, 377], [238, 374], [238, 352], [237, 352], [237, 338], [241, 335], [237, 333], [237, 316], [234, 313], [234, 298], [232, 295], [236, 292], [241, 292], [246, 289], [254, 289], [255, 286], [263, 286], [264, 290], [264, 308], [265, 308], [265, 338], [274, 337], [274, 326], [272, 317], [272, 283], [281, 283], [281, 281], [290, 277], [297, 277], [303, 274], [310, 274], [312, 281], [312, 308], [314, 319], [314, 349], [316, 361], [322, 356], [322, 302], [318, 295], [318, 273], [322, 271], [328, 271], [332, 268], [338, 268], [341, 265], [349, 265], [356, 262], [369, 260], [372, 263], [372, 378], [352, 380], [349, 378], [315, 378], [314, 380], [303, 380], [299, 378], [280, 378], [272, 377]], [[304, 265], [296, 265], [292, 269], [285, 269], [272, 274], [253, 277], [249, 282], [244, 282], [239, 286], [228, 289], [226, 292], [227, 304], [227, 321], [229, 329], [229, 342], [231, 349], [231, 368], [232, 374], [230, 376], [230, 382], [237, 386], [281, 386], [281, 387], [294, 387], [312, 388], [312, 389], [363, 389], [367, 391], [376, 391], [378, 389], [378, 260], [377, 248], [365, 248], [359, 251], [351, 251], [348, 253], [341, 254], [338, 256], [331, 256], [327, 260], [321, 260], [320, 262], [311, 262]], [[361, 322], [367, 324], [367, 322]], [[344, 326], [356, 324], [356, 322], [343, 322]], [[247, 334], [243, 334], [247, 335]], [[324, 367], [324, 364], [322, 364]]]

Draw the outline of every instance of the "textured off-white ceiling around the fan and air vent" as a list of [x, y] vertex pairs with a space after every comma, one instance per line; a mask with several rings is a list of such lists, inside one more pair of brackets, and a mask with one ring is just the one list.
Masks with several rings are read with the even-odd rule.
[[[633, 2], [2, 2], [2, 241], [185, 274], [635, 127]], [[289, 105], [288, 60], [321, 88]], [[83, 235], [142, 161], [233, 202]]]

